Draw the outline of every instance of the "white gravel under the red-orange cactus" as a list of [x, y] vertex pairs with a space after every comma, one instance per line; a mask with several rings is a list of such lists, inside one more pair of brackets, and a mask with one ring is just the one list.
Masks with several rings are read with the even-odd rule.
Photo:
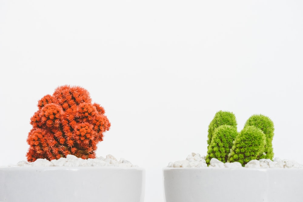
[[19, 161], [17, 165], [10, 165], [10, 167], [48, 167], [48, 166], [68, 166], [68, 167], [76, 167], [76, 166], [110, 166], [110, 167], [138, 167], [137, 165], [133, 165], [131, 162], [121, 158], [118, 161], [113, 155], [108, 154], [106, 158], [97, 157], [97, 158], [89, 158], [82, 159], [78, 158], [74, 155], [67, 155], [66, 158], [54, 159], [52, 161], [48, 161], [47, 159], [37, 159], [34, 162], [27, 161]]

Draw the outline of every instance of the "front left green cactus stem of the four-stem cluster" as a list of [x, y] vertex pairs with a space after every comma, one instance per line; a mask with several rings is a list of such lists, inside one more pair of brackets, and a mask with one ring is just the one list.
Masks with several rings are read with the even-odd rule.
[[211, 158], [216, 158], [223, 163], [227, 162], [228, 153], [237, 135], [238, 131], [233, 126], [221, 125], [217, 127], [208, 146], [206, 163], [209, 164]]

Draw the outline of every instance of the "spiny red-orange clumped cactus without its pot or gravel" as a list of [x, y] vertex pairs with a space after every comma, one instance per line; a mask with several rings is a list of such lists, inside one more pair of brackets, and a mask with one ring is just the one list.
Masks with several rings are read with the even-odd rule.
[[91, 101], [87, 90], [69, 85], [39, 100], [30, 122], [33, 128], [27, 138], [27, 160], [52, 160], [68, 154], [95, 158], [97, 144], [111, 124], [104, 108]]

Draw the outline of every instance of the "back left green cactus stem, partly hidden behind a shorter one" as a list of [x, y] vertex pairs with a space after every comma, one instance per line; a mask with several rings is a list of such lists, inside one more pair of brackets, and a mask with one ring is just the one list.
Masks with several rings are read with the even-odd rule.
[[229, 111], [218, 111], [215, 114], [215, 117], [213, 118], [213, 120], [210, 122], [208, 126], [208, 140], [207, 140], [208, 145], [211, 144], [211, 139], [215, 129], [221, 125], [230, 125], [237, 130], [237, 121], [235, 114]]

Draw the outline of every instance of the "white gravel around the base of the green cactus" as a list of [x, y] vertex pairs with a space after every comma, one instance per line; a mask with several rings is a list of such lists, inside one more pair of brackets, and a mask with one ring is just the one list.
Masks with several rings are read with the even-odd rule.
[[[200, 154], [191, 153], [185, 160], [169, 162], [167, 167], [207, 167], [205, 156]], [[210, 160], [208, 167], [213, 168], [243, 168], [239, 162], [223, 163], [216, 158]], [[270, 159], [251, 160], [245, 168], [302, 168], [303, 165], [296, 161], [275, 158], [274, 161]]]

